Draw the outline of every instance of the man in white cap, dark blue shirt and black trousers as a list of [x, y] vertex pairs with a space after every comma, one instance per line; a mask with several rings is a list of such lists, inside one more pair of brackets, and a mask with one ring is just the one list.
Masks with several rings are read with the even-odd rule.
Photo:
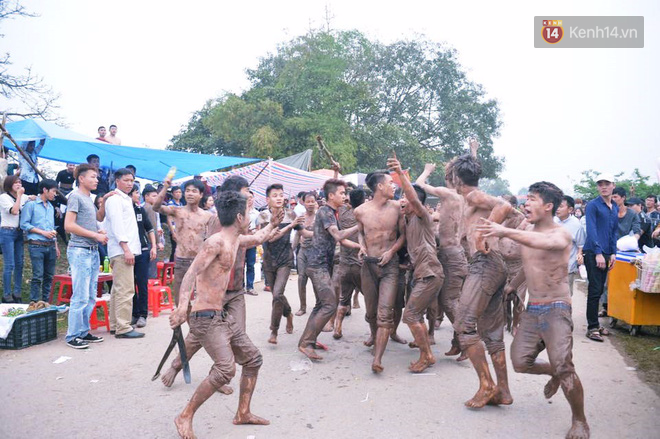
[[616, 260], [616, 239], [619, 208], [612, 203], [614, 177], [600, 174], [596, 184], [600, 197], [587, 204], [587, 239], [584, 244], [584, 265], [587, 268], [587, 338], [603, 341], [606, 330], [598, 322], [598, 302], [605, 288], [608, 271]]

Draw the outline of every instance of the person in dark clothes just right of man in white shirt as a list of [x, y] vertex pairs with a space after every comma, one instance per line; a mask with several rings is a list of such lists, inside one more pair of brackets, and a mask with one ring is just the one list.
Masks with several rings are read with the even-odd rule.
[[[153, 186], [151, 186], [153, 188]], [[146, 190], [146, 188], [145, 188]], [[135, 257], [135, 285], [137, 294], [133, 296], [133, 319], [131, 325], [138, 328], [147, 326], [149, 312], [149, 269], [156, 260], [156, 233], [144, 207], [140, 207], [140, 192], [137, 185], [129, 194], [133, 200], [133, 210], [138, 226], [142, 253]], [[146, 205], [145, 205], [146, 206]]]

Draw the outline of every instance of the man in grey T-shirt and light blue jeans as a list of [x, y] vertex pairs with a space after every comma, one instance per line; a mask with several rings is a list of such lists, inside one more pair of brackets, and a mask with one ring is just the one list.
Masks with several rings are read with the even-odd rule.
[[97, 220], [103, 221], [105, 216], [106, 197], [101, 199], [97, 212], [90, 196], [98, 185], [97, 175], [96, 168], [91, 165], [82, 164], [76, 168], [74, 176], [78, 189], [69, 195], [64, 219], [64, 230], [71, 234], [67, 257], [73, 284], [66, 343], [74, 349], [85, 349], [88, 343], [103, 341], [89, 332], [89, 317], [96, 305], [99, 277], [98, 244], [108, 242], [105, 232], [99, 232], [97, 224]]

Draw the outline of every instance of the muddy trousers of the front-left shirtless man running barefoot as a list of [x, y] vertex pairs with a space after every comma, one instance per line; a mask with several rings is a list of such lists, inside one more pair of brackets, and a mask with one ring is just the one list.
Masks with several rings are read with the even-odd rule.
[[203, 347], [213, 360], [209, 379], [213, 387], [220, 389], [236, 375], [235, 362], [243, 366], [243, 375], [256, 376], [263, 363], [261, 352], [245, 331], [226, 312], [216, 312], [213, 317], [188, 319], [190, 332], [186, 337], [186, 350]]

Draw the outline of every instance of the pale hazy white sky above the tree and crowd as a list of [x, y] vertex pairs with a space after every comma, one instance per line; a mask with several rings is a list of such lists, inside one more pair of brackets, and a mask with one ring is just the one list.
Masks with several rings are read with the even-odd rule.
[[[336, 29], [456, 48], [469, 78], [499, 101], [495, 152], [514, 192], [538, 180], [570, 190], [585, 169], [638, 167], [657, 179], [655, 0], [22, 3], [40, 16], [3, 23], [0, 52], [11, 53], [14, 72], [32, 66], [43, 76], [68, 126], [90, 136], [114, 123], [124, 145], [164, 148], [206, 100], [245, 89], [245, 69], [278, 43], [323, 25], [328, 6]], [[548, 14], [642, 15], [645, 48], [535, 49], [533, 18]]]

